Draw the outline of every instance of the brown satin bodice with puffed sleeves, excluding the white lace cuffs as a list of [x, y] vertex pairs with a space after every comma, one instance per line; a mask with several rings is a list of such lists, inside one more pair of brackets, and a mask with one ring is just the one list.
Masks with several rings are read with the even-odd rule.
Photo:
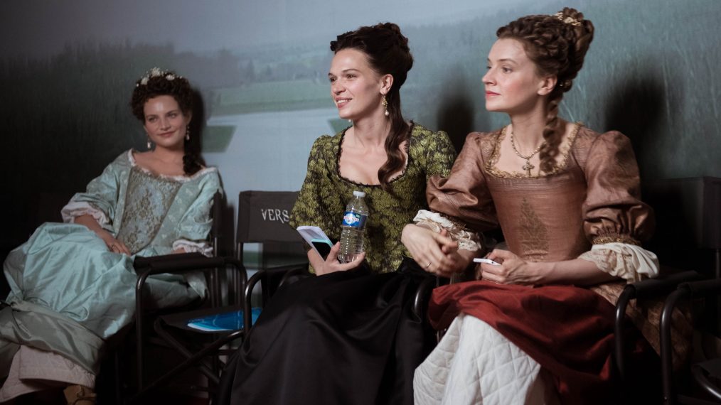
[[430, 209], [474, 231], [500, 226], [511, 252], [533, 262], [575, 259], [593, 243], [638, 243], [653, 232], [622, 133], [578, 128], [559, 167], [541, 177], [495, 169], [500, 135], [468, 135], [449, 177], [430, 179]]

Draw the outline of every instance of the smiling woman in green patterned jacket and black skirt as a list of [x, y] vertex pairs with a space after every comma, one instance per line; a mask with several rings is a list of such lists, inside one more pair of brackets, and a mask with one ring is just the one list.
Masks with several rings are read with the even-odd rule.
[[421, 270], [400, 241], [425, 184], [456, 153], [446, 133], [407, 122], [399, 89], [413, 64], [397, 25], [339, 35], [329, 70], [341, 118], [353, 125], [315, 141], [291, 225], [340, 239], [345, 203], [366, 193], [365, 254], [338, 262], [310, 250], [317, 277], [280, 288], [229, 363], [219, 404], [412, 404], [413, 370], [433, 336], [411, 311]]

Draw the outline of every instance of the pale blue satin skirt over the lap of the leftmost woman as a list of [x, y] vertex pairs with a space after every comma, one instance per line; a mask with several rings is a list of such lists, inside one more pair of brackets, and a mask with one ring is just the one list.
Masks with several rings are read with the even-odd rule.
[[[105, 242], [82, 225], [45, 223], [5, 265], [12, 279], [8, 301], [49, 308], [103, 339], [130, 323], [135, 313], [133, 257], [109, 252]], [[178, 280], [148, 282], [156, 306], [189, 303], [198, 294]]]

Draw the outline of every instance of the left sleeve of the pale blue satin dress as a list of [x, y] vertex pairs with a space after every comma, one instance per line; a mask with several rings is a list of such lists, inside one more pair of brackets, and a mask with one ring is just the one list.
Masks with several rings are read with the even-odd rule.
[[85, 192], [76, 193], [61, 210], [63, 221], [73, 223], [81, 215], [92, 215], [103, 228], [110, 229], [118, 205], [121, 177], [125, 177], [129, 165], [127, 160], [127, 154], [123, 153], [89, 182]]

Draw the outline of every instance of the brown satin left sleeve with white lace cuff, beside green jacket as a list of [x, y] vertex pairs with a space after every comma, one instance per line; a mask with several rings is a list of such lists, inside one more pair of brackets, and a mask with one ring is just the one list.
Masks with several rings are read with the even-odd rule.
[[495, 206], [482, 170], [483, 136], [472, 133], [466, 137], [448, 177], [430, 177], [425, 195], [433, 213], [421, 210], [414, 218], [419, 226], [433, 231], [445, 228], [464, 250], [478, 250], [478, 232], [497, 227]]

